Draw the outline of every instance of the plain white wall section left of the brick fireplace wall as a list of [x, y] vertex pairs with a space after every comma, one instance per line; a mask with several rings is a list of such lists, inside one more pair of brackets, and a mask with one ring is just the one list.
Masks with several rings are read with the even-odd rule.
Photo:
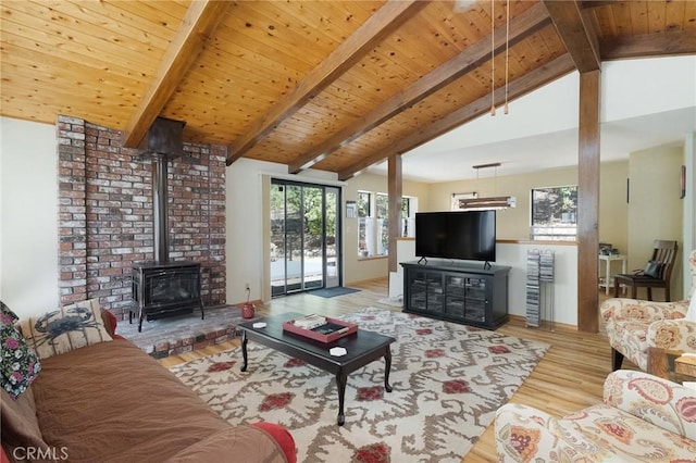
[[55, 126], [0, 118], [0, 299], [20, 316], [59, 305]]

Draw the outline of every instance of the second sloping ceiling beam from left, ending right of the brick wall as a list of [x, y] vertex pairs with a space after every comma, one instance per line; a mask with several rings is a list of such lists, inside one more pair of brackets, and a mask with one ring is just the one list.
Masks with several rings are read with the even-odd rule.
[[390, 0], [364, 24], [343, 41], [324, 61], [300, 80], [252, 127], [227, 147], [227, 165], [232, 164], [260, 140], [265, 138], [285, 118], [315, 97], [336, 78], [360, 61], [375, 45], [418, 14], [428, 2], [418, 0]]

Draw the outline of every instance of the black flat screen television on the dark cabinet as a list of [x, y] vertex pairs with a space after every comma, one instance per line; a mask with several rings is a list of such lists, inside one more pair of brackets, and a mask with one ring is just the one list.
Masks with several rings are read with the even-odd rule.
[[496, 211], [417, 213], [415, 255], [495, 262]]

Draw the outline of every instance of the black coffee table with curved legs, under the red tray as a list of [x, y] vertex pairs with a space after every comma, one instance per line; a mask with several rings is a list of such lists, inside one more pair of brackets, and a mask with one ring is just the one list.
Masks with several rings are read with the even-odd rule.
[[[338, 386], [338, 426], [346, 422], [344, 401], [346, 384], [350, 373], [374, 360], [384, 358], [384, 389], [387, 392], [391, 392], [391, 386], [389, 386], [391, 350], [389, 345], [396, 339], [378, 333], [358, 329], [352, 335], [325, 343], [283, 330], [283, 322], [300, 316], [302, 315], [299, 313], [287, 313], [239, 324], [238, 327], [241, 329], [241, 354], [244, 355], [241, 371], [247, 371], [247, 342], [251, 339], [336, 375], [336, 385]], [[264, 328], [254, 328], [253, 324], [259, 322], [265, 323], [266, 326]], [[348, 353], [343, 356], [333, 356], [328, 353], [328, 350], [334, 347], [343, 347]]]

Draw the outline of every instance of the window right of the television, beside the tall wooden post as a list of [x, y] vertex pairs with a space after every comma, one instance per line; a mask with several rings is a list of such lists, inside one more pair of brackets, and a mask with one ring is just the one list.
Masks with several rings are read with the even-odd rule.
[[577, 237], [577, 186], [532, 190], [532, 239], [574, 241]]

